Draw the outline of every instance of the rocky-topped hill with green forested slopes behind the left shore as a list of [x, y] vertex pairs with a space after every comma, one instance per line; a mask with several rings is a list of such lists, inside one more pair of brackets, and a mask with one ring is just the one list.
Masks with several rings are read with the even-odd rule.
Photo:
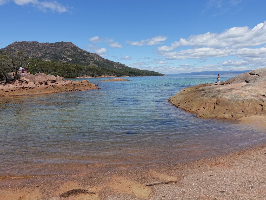
[[[74, 45], [72, 42], [55, 42], [55, 43], [39, 43], [39, 42], [14, 42], [5, 48], [2, 48], [1, 51], [3, 52], [17, 52], [19, 50], [24, 51], [29, 57], [47, 61], [48, 63], [56, 63], [57, 69], [51, 69], [50, 73], [57, 75], [64, 75], [65, 77], [69, 77], [75, 74], [75, 76], [84, 76], [84, 75], [128, 75], [128, 76], [160, 76], [163, 75], [158, 72], [148, 71], [148, 70], [139, 70], [128, 67], [122, 63], [114, 62], [105, 58], [102, 58], [98, 54], [89, 53], [83, 49], [80, 49], [78, 46]], [[44, 63], [44, 62], [39, 62]], [[63, 69], [65, 66], [74, 67], [72, 69], [72, 75], [70, 74], [62, 74]], [[47, 65], [47, 63], [45, 63]], [[80, 67], [77, 67], [80, 66]], [[80, 68], [86, 66], [86, 70], [80, 70]], [[52, 67], [52, 65], [51, 65]], [[41, 68], [41, 66], [39, 67]], [[48, 67], [49, 68], [49, 67]], [[45, 68], [47, 69], [47, 67]], [[73, 73], [74, 70], [74, 73]], [[43, 73], [48, 73], [47, 71], [41, 71]], [[96, 73], [96, 74], [95, 74]], [[105, 73], [105, 74], [101, 74]]]

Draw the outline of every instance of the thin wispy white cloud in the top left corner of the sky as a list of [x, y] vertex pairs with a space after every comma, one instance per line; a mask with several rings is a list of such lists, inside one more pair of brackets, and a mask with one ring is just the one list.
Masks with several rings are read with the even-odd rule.
[[10, 1], [13, 1], [15, 4], [19, 6], [30, 4], [34, 7], [37, 7], [38, 9], [46, 12], [47, 10], [50, 10], [52, 12], [57, 13], [64, 13], [68, 12], [69, 9], [58, 3], [57, 1], [38, 1], [38, 0], [0, 0], [0, 6], [9, 3]]

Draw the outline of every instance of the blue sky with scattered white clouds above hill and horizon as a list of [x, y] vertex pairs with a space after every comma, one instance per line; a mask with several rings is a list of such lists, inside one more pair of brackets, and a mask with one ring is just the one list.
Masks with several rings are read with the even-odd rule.
[[265, 0], [0, 0], [0, 48], [72, 42], [164, 74], [266, 66]]

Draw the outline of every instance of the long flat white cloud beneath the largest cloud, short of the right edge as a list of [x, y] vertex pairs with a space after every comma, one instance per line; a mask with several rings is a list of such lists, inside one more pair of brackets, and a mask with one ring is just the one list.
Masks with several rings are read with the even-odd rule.
[[159, 55], [164, 56], [166, 59], [178, 59], [185, 60], [188, 58], [200, 59], [208, 57], [226, 57], [232, 50], [226, 49], [214, 49], [209, 47], [203, 47], [199, 49], [186, 49], [178, 52], [162, 52]]

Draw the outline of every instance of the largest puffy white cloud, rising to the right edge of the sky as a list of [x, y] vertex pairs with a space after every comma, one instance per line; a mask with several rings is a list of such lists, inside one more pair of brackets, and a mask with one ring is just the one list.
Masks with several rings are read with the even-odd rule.
[[211, 47], [211, 48], [241, 48], [259, 46], [266, 43], [266, 21], [257, 24], [253, 29], [247, 26], [232, 27], [222, 33], [210, 33], [191, 35], [189, 38], [180, 38], [171, 46], [158, 47], [158, 51], [172, 51], [181, 46]]

